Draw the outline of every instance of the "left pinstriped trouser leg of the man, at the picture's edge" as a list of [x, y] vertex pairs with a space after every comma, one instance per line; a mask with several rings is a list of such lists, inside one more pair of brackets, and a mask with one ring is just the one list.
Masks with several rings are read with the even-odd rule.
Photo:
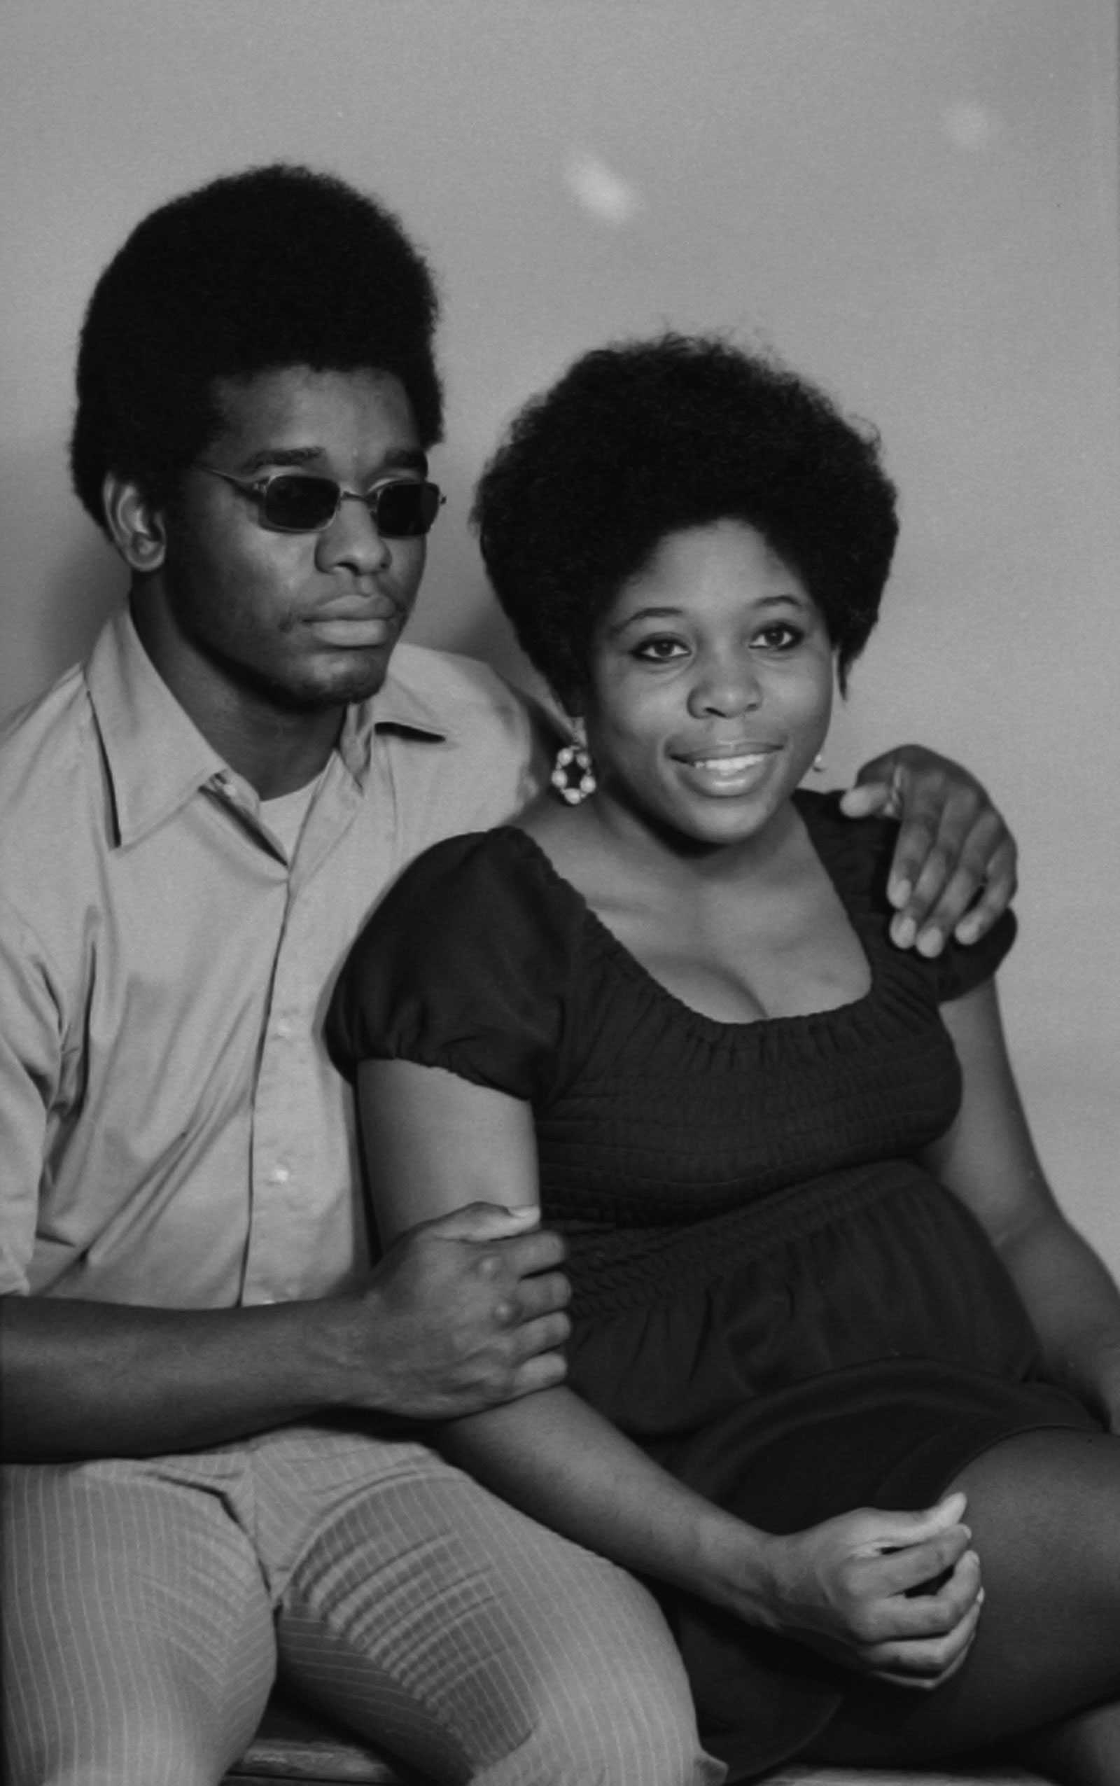
[[213, 1786], [245, 1748], [275, 1640], [232, 1468], [4, 1472], [9, 1786]]

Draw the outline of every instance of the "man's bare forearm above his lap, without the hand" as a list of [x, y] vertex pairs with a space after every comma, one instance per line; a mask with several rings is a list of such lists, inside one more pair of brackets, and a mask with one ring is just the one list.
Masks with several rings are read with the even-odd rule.
[[0, 1452], [145, 1457], [341, 1406], [345, 1316], [330, 1302], [179, 1311], [7, 1297]]

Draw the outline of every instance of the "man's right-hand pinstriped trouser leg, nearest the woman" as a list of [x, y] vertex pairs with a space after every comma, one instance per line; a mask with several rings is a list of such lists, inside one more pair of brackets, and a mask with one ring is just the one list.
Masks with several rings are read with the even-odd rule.
[[[645, 1588], [425, 1447], [309, 1431], [255, 1454], [261, 1554], [291, 1484], [320, 1520], [277, 1565], [280, 1672], [439, 1781], [716, 1786]], [[284, 1486], [282, 1486], [284, 1484]], [[270, 1509], [266, 1515], [264, 1509]], [[268, 1566], [268, 1565], [266, 1565]]]

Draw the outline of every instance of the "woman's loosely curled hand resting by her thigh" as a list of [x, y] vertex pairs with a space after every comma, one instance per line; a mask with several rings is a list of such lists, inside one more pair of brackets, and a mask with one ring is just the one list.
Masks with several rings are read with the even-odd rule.
[[965, 1661], [981, 1615], [981, 1566], [963, 1495], [925, 1513], [845, 1513], [766, 1538], [754, 1620], [859, 1673], [932, 1690]]

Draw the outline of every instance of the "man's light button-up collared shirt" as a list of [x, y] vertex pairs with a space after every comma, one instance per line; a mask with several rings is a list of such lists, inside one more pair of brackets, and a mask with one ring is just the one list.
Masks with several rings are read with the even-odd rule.
[[536, 789], [529, 711], [400, 645], [348, 711], [293, 859], [125, 613], [0, 741], [0, 1291], [221, 1307], [370, 1264], [322, 1023], [427, 845]]

